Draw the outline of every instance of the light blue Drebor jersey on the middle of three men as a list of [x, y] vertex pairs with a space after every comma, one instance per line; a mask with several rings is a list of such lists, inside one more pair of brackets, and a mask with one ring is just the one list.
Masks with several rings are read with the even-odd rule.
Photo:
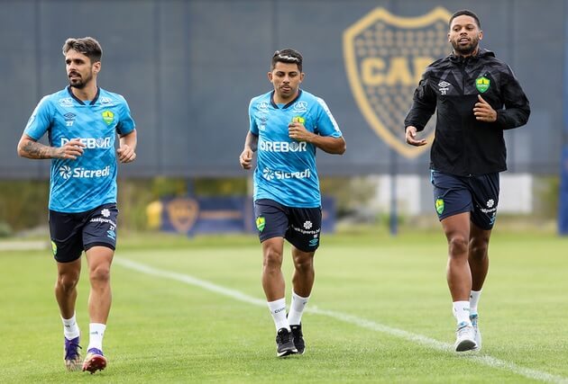
[[250, 130], [259, 137], [254, 200], [270, 199], [295, 208], [319, 207], [316, 146], [289, 138], [288, 125], [300, 117], [307, 130], [321, 136], [341, 138], [341, 130], [319, 97], [300, 90], [292, 102], [277, 105], [273, 94], [254, 97], [249, 105]]

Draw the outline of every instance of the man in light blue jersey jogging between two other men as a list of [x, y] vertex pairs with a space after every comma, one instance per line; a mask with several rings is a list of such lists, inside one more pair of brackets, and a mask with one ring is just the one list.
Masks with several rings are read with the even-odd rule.
[[[268, 78], [274, 89], [249, 105], [250, 129], [239, 157], [254, 170], [254, 215], [262, 245], [262, 288], [276, 326], [277, 355], [302, 354], [301, 317], [314, 285], [314, 255], [322, 211], [316, 148], [342, 155], [345, 140], [325, 102], [300, 89], [305, 74], [295, 49], [274, 52]], [[292, 246], [295, 272], [286, 313], [282, 275], [284, 239]]]

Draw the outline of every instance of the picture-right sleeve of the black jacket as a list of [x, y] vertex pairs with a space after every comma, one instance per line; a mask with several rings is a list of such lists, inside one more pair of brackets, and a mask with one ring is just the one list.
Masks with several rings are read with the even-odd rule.
[[527, 124], [530, 106], [527, 95], [523, 92], [510, 67], [505, 74], [506, 80], [501, 85], [501, 95], [505, 109], [497, 111], [497, 124], [501, 129], [513, 129]]

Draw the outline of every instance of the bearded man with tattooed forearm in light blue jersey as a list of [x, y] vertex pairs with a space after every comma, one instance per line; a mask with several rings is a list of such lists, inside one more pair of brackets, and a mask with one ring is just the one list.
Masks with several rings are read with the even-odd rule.
[[[110, 267], [118, 215], [116, 162], [136, 158], [136, 129], [124, 97], [96, 85], [102, 56], [98, 41], [68, 39], [63, 55], [69, 86], [41, 99], [18, 143], [18, 155], [51, 159], [50, 237], [58, 270], [55, 297], [69, 371], [81, 368], [75, 303], [80, 256], [83, 251], [87, 255], [90, 323], [82, 370], [95, 373], [106, 367], [103, 335], [111, 307]], [[38, 142], [46, 132], [49, 145]]]

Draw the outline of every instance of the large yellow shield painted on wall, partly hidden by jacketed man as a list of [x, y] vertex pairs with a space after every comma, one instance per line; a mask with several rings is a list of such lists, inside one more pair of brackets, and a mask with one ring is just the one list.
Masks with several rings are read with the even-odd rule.
[[424, 147], [408, 146], [403, 126], [424, 70], [451, 49], [450, 16], [440, 7], [413, 18], [377, 8], [344, 31], [345, 68], [355, 102], [380, 138], [408, 158], [421, 155], [434, 139], [435, 116], [426, 125]]

